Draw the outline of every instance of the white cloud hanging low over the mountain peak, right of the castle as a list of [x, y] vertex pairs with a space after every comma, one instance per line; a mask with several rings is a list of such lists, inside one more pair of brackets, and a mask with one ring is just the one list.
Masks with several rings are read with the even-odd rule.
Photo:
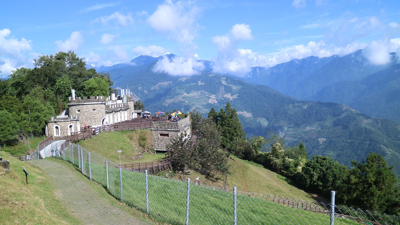
[[154, 66], [154, 72], [166, 72], [172, 76], [191, 76], [204, 69], [204, 64], [193, 58], [163, 56]]

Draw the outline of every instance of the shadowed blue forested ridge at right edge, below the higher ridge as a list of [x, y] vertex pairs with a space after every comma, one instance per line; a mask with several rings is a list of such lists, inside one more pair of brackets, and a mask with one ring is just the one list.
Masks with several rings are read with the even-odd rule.
[[331, 84], [310, 99], [342, 102], [372, 117], [400, 122], [400, 64], [388, 66], [360, 80]]

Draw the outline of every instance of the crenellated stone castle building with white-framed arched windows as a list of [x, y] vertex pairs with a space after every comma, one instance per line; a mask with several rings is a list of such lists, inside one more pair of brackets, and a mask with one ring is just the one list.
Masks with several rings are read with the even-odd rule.
[[[123, 93], [122, 93], [123, 94]], [[46, 136], [65, 138], [72, 132], [88, 127], [118, 123], [136, 117], [133, 95], [72, 97], [68, 99], [68, 108], [56, 118], [52, 117], [46, 126]]]

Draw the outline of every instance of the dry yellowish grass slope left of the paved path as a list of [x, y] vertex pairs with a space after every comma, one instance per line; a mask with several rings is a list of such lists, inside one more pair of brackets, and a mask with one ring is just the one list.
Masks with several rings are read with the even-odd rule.
[[[1, 152], [11, 173], [0, 168], [0, 221], [4, 224], [79, 224], [56, 199], [54, 187], [38, 167]], [[28, 184], [22, 166], [29, 173]]]

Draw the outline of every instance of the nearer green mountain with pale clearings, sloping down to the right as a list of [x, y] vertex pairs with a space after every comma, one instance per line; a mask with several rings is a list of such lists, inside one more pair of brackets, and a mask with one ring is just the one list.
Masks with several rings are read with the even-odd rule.
[[156, 73], [152, 71], [155, 64], [126, 64], [109, 73], [115, 86], [128, 84], [150, 112], [196, 108], [207, 113], [229, 101], [248, 137], [272, 130], [289, 145], [304, 141], [310, 156], [328, 155], [348, 166], [374, 151], [384, 155], [400, 174], [400, 125], [394, 121], [373, 119], [343, 104], [296, 100], [268, 86], [210, 71], [183, 77]]

